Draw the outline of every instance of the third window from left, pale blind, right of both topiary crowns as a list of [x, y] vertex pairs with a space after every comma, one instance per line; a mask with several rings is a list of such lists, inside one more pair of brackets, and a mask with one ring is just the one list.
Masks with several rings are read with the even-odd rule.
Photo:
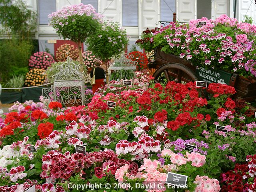
[[122, 26], [138, 26], [138, 0], [122, 0]]

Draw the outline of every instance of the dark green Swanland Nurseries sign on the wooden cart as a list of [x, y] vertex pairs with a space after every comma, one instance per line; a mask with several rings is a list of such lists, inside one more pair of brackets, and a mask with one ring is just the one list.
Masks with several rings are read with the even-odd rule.
[[200, 67], [196, 70], [196, 74], [200, 81], [207, 81], [209, 83], [229, 84], [231, 73], [222, 70], [206, 69]]

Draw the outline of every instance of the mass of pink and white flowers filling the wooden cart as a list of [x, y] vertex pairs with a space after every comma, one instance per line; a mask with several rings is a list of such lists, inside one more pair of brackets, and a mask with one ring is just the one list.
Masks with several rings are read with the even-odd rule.
[[[198, 26], [201, 21], [206, 25]], [[255, 34], [255, 25], [222, 15], [216, 20], [191, 20], [189, 24], [171, 22], [156, 30], [150, 40], [154, 48], [190, 60], [196, 67], [228, 70], [247, 77], [256, 76]]]

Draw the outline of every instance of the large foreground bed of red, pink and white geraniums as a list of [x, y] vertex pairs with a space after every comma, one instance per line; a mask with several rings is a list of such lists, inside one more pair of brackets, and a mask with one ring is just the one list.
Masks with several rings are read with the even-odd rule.
[[0, 190], [90, 191], [77, 184], [96, 183], [102, 192], [161, 192], [178, 176], [186, 189], [175, 191], [255, 191], [255, 116], [230, 98], [235, 89], [210, 84], [206, 100], [192, 82], [152, 79], [111, 81], [87, 106], [14, 104], [0, 118]]

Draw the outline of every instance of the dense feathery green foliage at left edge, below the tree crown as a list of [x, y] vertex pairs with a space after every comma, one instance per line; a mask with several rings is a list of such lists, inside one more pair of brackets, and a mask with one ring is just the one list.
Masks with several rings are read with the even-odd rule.
[[32, 50], [33, 46], [30, 42], [15, 39], [2, 40], [0, 42], [0, 79], [7, 82], [13, 75], [26, 74]]

